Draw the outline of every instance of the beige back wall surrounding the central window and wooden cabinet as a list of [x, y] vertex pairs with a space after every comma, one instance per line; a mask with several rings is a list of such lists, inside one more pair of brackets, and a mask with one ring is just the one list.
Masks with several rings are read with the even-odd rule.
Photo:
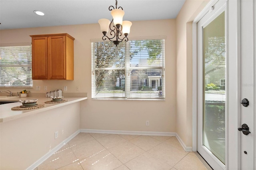
[[[29, 35], [68, 33], [74, 40], [74, 81], [35, 80], [33, 93], [44, 93], [68, 86], [68, 93], [88, 93], [88, 100], [80, 110], [80, 128], [98, 130], [134, 130], [176, 132], [176, 20], [150, 20], [132, 22], [130, 40], [138, 37], [166, 36], [166, 99], [165, 101], [127, 101], [91, 99], [91, 43], [101, 39], [98, 24], [55, 26], [1, 30], [1, 43], [31, 42]], [[41, 86], [41, 91], [35, 91]], [[80, 91], [76, 91], [80, 86]], [[1, 88], [0, 90], [6, 90]], [[24, 88], [23, 88], [24, 89]], [[22, 89], [10, 88], [12, 92]], [[150, 126], [146, 127], [146, 120]]]

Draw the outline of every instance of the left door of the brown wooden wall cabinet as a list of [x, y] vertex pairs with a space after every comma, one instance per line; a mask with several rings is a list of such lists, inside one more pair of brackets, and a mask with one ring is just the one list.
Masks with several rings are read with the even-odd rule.
[[32, 38], [32, 79], [47, 79], [47, 37]]

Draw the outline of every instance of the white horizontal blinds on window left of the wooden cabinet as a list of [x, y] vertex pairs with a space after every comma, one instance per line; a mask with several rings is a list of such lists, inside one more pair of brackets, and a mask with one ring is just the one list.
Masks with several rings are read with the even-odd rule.
[[0, 47], [0, 56], [0, 86], [33, 86], [31, 45]]

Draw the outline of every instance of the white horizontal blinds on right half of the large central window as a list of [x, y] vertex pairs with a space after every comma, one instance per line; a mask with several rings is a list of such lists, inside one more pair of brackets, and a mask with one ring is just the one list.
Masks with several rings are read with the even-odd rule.
[[164, 99], [164, 40], [130, 41], [131, 99]]

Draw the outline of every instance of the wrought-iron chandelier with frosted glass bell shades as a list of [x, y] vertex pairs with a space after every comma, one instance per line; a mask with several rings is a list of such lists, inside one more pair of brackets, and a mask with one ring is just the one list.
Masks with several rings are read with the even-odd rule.
[[[102, 18], [98, 20], [98, 23], [100, 24], [100, 30], [103, 33], [102, 40], [110, 40], [113, 42], [116, 46], [124, 41], [128, 41], [128, 34], [130, 33], [130, 27], [132, 26], [132, 22], [130, 21], [123, 21], [124, 11], [123, 8], [120, 6], [117, 8], [117, 0], [116, 0], [116, 8], [114, 6], [110, 6], [108, 10], [111, 11], [111, 15], [113, 17], [112, 21]], [[114, 23], [114, 24], [112, 24]], [[109, 38], [106, 36], [108, 33], [108, 28], [110, 31], [110, 36], [112, 38]], [[124, 34], [124, 37], [122, 38], [122, 32]]]

